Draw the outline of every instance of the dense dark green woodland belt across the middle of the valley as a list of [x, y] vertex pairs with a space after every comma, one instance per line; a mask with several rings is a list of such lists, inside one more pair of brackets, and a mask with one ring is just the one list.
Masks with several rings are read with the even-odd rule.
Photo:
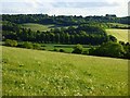
[[79, 25], [68, 28], [61, 27], [47, 32], [34, 32], [30, 28], [22, 28], [15, 23], [6, 22], [2, 25], [2, 36], [4, 39], [14, 39], [18, 41], [32, 41], [44, 44], [81, 44], [81, 45], [101, 45], [106, 41], [116, 41], [117, 39], [107, 35], [103, 28], [95, 25]]

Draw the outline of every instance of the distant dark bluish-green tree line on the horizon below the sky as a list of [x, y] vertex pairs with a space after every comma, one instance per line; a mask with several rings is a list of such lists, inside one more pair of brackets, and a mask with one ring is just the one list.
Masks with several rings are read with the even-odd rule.
[[48, 15], [48, 14], [2, 14], [2, 21], [10, 21], [16, 24], [23, 23], [39, 23], [39, 24], [55, 24], [55, 25], [79, 25], [87, 23], [122, 23], [130, 24], [129, 16], [126, 17], [109, 17], [109, 16], [76, 16], [76, 15]]

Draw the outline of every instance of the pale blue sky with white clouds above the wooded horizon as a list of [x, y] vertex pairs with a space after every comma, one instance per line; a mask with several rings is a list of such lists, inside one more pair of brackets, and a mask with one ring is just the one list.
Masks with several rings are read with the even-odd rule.
[[128, 16], [129, 0], [0, 0], [0, 14]]

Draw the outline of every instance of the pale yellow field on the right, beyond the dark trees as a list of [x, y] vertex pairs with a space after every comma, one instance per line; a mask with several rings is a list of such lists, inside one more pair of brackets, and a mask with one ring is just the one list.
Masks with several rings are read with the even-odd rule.
[[121, 40], [128, 42], [128, 29], [106, 29], [106, 32], [108, 35], [115, 36], [118, 39], [118, 41]]

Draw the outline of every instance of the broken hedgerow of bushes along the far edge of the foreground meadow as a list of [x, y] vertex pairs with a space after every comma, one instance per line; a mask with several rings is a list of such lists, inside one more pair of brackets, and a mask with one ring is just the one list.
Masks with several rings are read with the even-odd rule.
[[[44, 45], [29, 42], [29, 41], [17, 42], [16, 40], [5, 39], [4, 45], [10, 47], [46, 50]], [[54, 48], [51, 51], [66, 52], [64, 49], [57, 50], [56, 48]], [[108, 42], [102, 44], [99, 47], [91, 47], [88, 50], [83, 50], [82, 45], [77, 44], [74, 47], [74, 50], [72, 51], [72, 53], [130, 59], [130, 44], [129, 42], [125, 44], [122, 41], [119, 41], [119, 42], [108, 41]]]

